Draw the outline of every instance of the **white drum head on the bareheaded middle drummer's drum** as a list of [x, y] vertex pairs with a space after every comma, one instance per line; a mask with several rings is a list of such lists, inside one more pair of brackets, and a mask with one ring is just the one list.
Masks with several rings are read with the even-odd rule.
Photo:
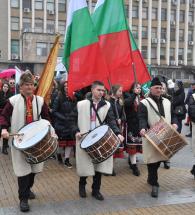
[[81, 142], [81, 148], [85, 149], [95, 144], [105, 135], [105, 133], [108, 131], [108, 128], [109, 127], [107, 125], [101, 125], [95, 128], [83, 139], [83, 141]]

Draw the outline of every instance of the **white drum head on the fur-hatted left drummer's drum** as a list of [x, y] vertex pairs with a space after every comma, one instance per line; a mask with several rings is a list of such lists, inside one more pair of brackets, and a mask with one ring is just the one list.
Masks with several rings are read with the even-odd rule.
[[14, 146], [19, 150], [31, 148], [48, 134], [49, 125], [49, 121], [41, 119], [24, 126], [18, 132], [22, 135], [14, 137]]

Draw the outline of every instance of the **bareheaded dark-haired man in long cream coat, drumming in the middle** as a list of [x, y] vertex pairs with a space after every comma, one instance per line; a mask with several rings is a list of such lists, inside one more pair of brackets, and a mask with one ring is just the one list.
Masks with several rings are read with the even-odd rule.
[[87, 177], [93, 176], [92, 196], [101, 201], [104, 200], [103, 195], [100, 193], [101, 176], [102, 173], [112, 174], [113, 157], [111, 156], [100, 164], [93, 164], [87, 152], [80, 148], [82, 133], [93, 130], [102, 123], [106, 123], [118, 135], [121, 142], [124, 138], [116, 125], [110, 103], [103, 99], [105, 93], [104, 84], [100, 81], [95, 81], [92, 84], [91, 92], [91, 98], [80, 101], [77, 104], [75, 119], [77, 120], [78, 127], [74, 128], [76, 133], [76, 167], [77, 174], [80, 176], [80, 197], [86, 198], [85, 186]]

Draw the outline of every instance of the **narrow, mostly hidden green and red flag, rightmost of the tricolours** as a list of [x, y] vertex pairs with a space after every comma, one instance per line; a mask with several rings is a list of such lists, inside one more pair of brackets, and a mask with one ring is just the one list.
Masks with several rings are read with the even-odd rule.
[[[140, 84], [146, 84], [151, 79], [150, 73], [148, 72], [148, 69], [144, 62], [142, 54], [137, 47], [137, 44], [135, 42], [135, 39], [133, 38], [133, 34], [130, 29], [129, 29], [129, 35], [130, 35], [131, 48], [132, 48], [132, 59], [133, 59], [133, 64], [134, 64], [137, 81]], [[146, 84], [145, 87], [146, 86], [148, 87], [148, 86], [150, 86], [150, 84]]]

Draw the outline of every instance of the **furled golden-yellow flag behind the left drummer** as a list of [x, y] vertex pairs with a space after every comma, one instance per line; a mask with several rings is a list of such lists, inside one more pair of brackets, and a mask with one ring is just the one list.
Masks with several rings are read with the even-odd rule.
[[47, 104], [49, 104], [50, 95], [51, 95], [52, 86], [53, 86], [54, 72], [57, 64], [57, 57], [58, 57], [58, 50], [59, 50], [59, 39], [60, 39], [60, 35], [57, 35], [55, 38], [53, 47], [50, 51], [50, 54], [47, 58], [47, 62], [44, 66], [41, 77], [39, 79], [37, 92], [36, 92], [38, 96], [42, 96], [45, 99], [45, 102]]

